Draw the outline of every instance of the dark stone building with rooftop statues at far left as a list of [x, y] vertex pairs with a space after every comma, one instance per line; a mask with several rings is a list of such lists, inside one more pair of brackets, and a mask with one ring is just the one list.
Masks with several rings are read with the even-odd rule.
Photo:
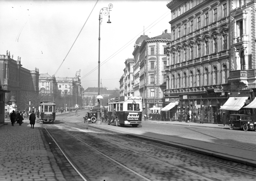
[[21, 64], [21, 58], [17, 60], [11, 58], [10, 52], [8, 55], [0, 55], [0, 84], [3, 89], [8, 89], [9, 92], [5, 95], [6, 101], [11, 99], [11, 96], [15, 96], [16, 105], [21, 106], [21, 92], [39, 92], [39, 70], [30, 71]]

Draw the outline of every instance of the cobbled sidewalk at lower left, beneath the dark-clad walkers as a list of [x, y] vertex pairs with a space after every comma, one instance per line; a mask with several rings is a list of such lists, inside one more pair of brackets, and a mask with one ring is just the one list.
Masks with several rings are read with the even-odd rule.
[[0, 180], [1, 181], [65, 181], [48, 143], [42, 127], [36, 121], [34, 129], [29, 120], [19, 126], [0, 124]]

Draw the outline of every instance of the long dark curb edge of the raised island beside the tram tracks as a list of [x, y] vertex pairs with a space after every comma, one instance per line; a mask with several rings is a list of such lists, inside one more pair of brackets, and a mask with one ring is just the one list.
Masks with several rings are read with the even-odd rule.
[[244, 158], [241, 158], [241, 157], [233, 157], [231, 155], [225, 155], [225, 154], [219, 153], [219, 152], [204, 150], [202, 148], [197, 148], [197, 147], [191, 147], [191, 146], [187, 146], [185, 144], [167, 142], [165, 140], [159, 140], [159, 139], [150, 138], [150, 137], [147, 137], [147, 136], [141, 136], [141, 135], [126, 133], [126, 132], [117, 131], [117, 130], [109, 130], [109, 129], [104, 128], [104, 127], [98, 127], [98, 126], [94, 126], [94, 125], [88, 125], [88, 126], [97, 127], [98, 129], [102, 129], [102, 130], [106, 130], [106, 131], [110, 131], [110, 132], [116, 132], [116, 133], [119, 133], [119, 134], [144, 139], [144, 140], [148, 140], [148, 141], [151, 141], [151, 142], [164, 144], [164, 145], [167, 145], [167, 146], [182, 148], [184, 150], [188, 150], [188, 151], [192, 151], [192, 152], [196, 152], [196, 153], [201, 153], [203, 155], [213, 156], [213, 157], [223, 159], [223, 160], [233, 161], [233, 162], [248, 165], [248, 166], [251, 166], [251, 167], [256, 167], [256, 161], [244, 159]]

